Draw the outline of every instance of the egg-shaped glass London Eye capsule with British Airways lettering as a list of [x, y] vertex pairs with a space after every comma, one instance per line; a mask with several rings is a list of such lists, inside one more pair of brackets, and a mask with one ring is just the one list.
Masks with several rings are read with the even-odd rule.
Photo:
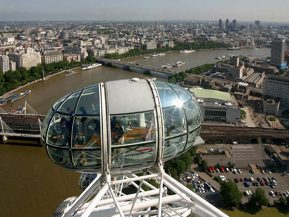
[[192, 93], [151, 79], [99, 83], [49, 109], [42, 140], [54, 163], [85, 173], [141, 171], [203, 142]]

